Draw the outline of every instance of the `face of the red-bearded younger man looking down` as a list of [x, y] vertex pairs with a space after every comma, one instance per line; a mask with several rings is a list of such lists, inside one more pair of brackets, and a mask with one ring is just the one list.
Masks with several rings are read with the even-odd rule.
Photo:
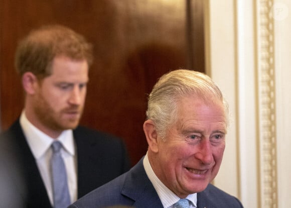
[[35, 114], [46, 131], [74, 129], [83, 113], [88, 82], [86, 60], [57, 56], [52, 74], [39, 83]]

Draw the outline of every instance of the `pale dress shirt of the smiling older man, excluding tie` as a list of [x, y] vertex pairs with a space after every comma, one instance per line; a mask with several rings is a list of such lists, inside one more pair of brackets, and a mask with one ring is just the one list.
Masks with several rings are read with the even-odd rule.
[[[174, 208], [174, 203], [179, 201], [180, 197], [164, 185], [164, 183], [162, 183], [162, 181], [157, 177], [150, 164], [148, 153], [143, 158], [143, 167], [145, 173], [147, 173], [150, 181], [153, 183], [164, 208]], [[186, 198], [190, 200], [190, 208], [197, 207], [197, 193], [190, 194]]]

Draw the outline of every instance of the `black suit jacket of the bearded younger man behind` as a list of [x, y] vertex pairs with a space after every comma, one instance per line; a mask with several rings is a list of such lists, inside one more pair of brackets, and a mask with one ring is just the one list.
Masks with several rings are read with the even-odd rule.
[[[121, 139], [84, 127], [73, 130], [73, 135], [77, 150], [78, 198], [129, 169], [129, 158]], [[19, 120], [0, 135], [0, 177], [0, 182], [8, 184], [8, 187], [0, 187], [0, 194], [11, 197], [5, 198], [5, 207], [13, 207], [9, 203], [14, 202], [21, 207], [51, 208]]]

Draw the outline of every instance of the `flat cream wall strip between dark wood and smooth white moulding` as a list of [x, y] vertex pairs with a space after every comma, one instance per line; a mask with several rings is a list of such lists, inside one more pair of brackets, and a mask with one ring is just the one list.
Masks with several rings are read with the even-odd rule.
[[[233, 4], [230, 1], [210, 1], [206, 6], [206, 68], [209, 74], [220, 86], [229, 103], [231, 112], [230, 129], [227, 134], [225, 156], [215, 184], [223, 187], [233, 195], [239, 195], [237, 168], [237, 139], [236, 139], [236, 112], [235, 112], [235, 45]], [[220, 11], [220, 12], [219, 12]], [[223, 15], [221, 15], [223, 11]], [[218, 24], [219, 23], [219, 24]], [[224, 179], [228, 179], [227, 181]]]

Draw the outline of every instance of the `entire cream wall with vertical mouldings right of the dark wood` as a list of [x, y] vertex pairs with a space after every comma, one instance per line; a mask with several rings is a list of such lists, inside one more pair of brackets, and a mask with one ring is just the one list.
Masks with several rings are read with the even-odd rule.
[[244, 207], [289, 207], [291, 1], [205, 4], [207, 73], [232, 121], [214, 183]]

